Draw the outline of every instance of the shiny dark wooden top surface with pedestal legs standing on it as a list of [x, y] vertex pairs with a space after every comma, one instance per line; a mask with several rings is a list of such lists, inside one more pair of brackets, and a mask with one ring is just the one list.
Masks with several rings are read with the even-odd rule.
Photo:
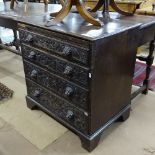
[[[55, 31], [71, 36], [76, 36], [86, 40], [98, 40], [107, 36], [112, 36], [123, 31], [136, 28], [142, 24], [154, 24], [154, 17], [144, 16], [122, 16], [118, 13], [110, 13], [110, 19], [102, 27], [93, 26], [76, 13], [70, 13], [63, 22], [55, 26], [46, 27], [45, 22], [50, 19], [49, 12], [60, 10], [60, 5], [49, 4], [45, 6], [41, 3], [28, 3], [25, 8], [24, 3], [20, 3], [14, 9], [9, 9], [9, 3], [6, 3], [0, 11], [0, 18], [12, 18], [17, 22], [41, 27], [46, 30]], [[101, 12], [97, 16], [103, 20]]]

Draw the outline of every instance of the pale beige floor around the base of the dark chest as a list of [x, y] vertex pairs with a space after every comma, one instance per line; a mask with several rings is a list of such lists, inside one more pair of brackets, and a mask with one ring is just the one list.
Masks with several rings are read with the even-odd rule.
[[[89, 154], [76, 135], [43, 112], [26, 107], [20, 56], [0, 52], [0, 81], [15, 91], [11, 100], [0, 104], [0, 155]], [[155, 93], [138, 96], [130, 118], [112, 125], [91, 154], [155, 155]]]

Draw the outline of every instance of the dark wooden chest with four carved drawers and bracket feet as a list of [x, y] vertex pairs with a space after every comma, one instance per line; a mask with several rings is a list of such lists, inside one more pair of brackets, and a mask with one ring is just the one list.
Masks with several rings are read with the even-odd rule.
[[108, 126], [129, 116], [140, 24], [114, 18], [95, 27], [77, 14], [50, 28], [44, 21], [19, 23], [27, 106], [48, 113], [91, 151]]

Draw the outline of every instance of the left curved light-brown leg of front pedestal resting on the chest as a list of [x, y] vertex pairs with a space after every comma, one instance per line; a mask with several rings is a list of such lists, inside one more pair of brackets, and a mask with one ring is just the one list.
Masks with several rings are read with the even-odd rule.
[[[49, 20], [45, 26], [52, 26], [60, 23], [69, 13], [72, 7], [72, 0], [66, 0], [64, 6], [59, 11], [59, 13], [56, 13], [56, 17], [54, 19]], [[51, 14], [52, 15], [52, 14]]]

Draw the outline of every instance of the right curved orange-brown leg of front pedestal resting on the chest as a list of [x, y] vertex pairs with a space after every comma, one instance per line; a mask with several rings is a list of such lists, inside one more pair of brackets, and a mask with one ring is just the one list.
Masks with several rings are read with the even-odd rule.
[[83, 3], [83, 0], [75, 0], [76, 8], [79, 12], [79, 14], [88, 22], [95, 26], [102, 26], [103, 23], [100, 20], [95, 19], [93, 16], [91, 16], [90, 12], [87, 11], [85, 8], [85, 5]]

